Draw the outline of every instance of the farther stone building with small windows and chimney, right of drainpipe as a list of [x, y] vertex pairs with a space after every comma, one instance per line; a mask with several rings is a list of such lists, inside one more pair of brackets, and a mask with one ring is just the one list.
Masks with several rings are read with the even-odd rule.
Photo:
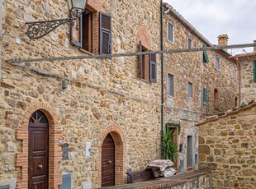
[[[165, 4], [165, 11], [165, 49], [213, 47], [172, 6]], [[228, 45], [227, 35], [218, 39], [219, 46]], [[164, 55], [164, 122], [178, 136], [180, 171], [197, 168], [198, 136], [194, 124], [235, 107], [237, 66], [229, 57], [225, 50]], [[173, 127], [177, 124], [179, 127]]]

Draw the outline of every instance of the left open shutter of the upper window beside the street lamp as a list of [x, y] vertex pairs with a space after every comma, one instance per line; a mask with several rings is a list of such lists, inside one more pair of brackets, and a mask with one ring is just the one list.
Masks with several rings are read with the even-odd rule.
[[83, 46], [82, 23], [83, 16], [80, 16], [76, 21], [74, 21], [73, 27], [70, 28], [70, 42], [80, 48]]

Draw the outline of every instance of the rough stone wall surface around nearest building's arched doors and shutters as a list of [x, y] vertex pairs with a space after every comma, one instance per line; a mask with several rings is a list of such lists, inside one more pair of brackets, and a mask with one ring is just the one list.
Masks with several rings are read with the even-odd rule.
[[[95, 8], [100, 7], [99, 10], [112, 16], [113, 53], [138, 51], [141, 25], [147, 33], [150, 49], [159, 49], [159, 30], [153, 30], [159, 28], [158, 1], [88, 3], [91, 7], [94, 3]], [[133, 10], [132, 14], [130, 10]], [[113, 136], [119, 133], [118, 137], [124, 139], [121, 141], [124, 154], [119, 157], [124, 163], [116, 184], [125, 182], [126, 168], [139, 170], [145, 168], [149, 160], [160, 157], [160, 76], [156, 84], [140, 80], [137, 57], [26, 62], [23, 68], [7, 63], [12, 58], [88, 55], [69, 43], [67, 25], [42, 39], [30, 40], [25, 35], [26, 21], [68, 16], [68, 4], [64, 0], [3, 2], [0, 177], [1, 181], [17, 178], [19, 188], [26, 188], [27, 181], [27, 149], [24, 147], [27, 146], [27, 130], [22, 132], [21, 128], [26, 124], [24, 117], [29, 118], [26, 113], [34, 107], [45, 112], [50, 109], [48, 118], [53, 116], [51, 113], [55, 115], [50, 122], [58, 123], [62, 136], [54, 134], [53, 145], [68, 143], [69, 159], [54, 163], [53, 171], [58, 175], [72, 173], [74, 188], [82, 188], [84, 182], [92, 182], [93, 188], [101, 187], [100, 145], [106, 131], [112, 132]], [[16, 39], [21, 40], [20, 44]], [[157, 62], [159, 68], [159, 56]], [[29, 67], [55, 76], [37, 74], [27, 69]], [[67, 90], [62, 89], [64, 78], [69, 80]], [[91, 142], [89, 157], [84, 154], [87, 142]], [[55, 158], [56, 161], [61, 159], [61, 154]], [[50, 187], [59, 182], [53, 181]]]

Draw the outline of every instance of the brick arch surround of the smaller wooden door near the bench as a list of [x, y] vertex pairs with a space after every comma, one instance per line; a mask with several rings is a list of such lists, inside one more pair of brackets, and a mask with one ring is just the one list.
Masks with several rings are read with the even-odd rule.
[[122, 131], [120, 128], [116, 126], [109, 126], [107, 127], [100, 138], [100, 145], [99, 145], [99, 161], [97, 163], [97, 170], [98, 170], [98, 180], [97, 183], [101, 186], [102, 182], [102, 144], [104, 139], [108, 134], [111, 134], [114, 142], [115, 142], [115, 171], [116, 171], [116, 177], [115, 177], [115, 183], [116, 185], [124, 184], [126, 179], [126, 151], [125, 151], [125, 141], [124, 136], [122, 134]]

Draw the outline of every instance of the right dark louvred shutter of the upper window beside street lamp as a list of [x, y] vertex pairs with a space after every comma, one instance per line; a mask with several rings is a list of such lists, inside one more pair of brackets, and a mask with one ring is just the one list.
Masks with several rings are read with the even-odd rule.
[[100, 12], [100, 54], [111, 54], [111, 16]]

